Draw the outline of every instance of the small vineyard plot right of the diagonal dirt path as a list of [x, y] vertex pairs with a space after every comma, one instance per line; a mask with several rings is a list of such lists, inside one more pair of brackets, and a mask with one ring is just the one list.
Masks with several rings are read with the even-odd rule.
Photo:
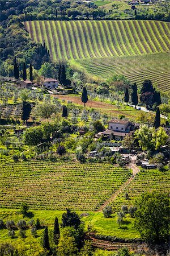
[[[141, 171], [135, 176], [134, 180], [125, 188], [125, 190], [118, 195], [113, 203], [113, 208], [116, 211], [121, 210], [122, 205], [128, 207], [134, 205], [135, 199], [143, 192], [162, 191], [170, 192], [170, 170], [160, 172], [158, 170]], [[125, 200], [125, 193], [128, 193], [129, 200]]]

